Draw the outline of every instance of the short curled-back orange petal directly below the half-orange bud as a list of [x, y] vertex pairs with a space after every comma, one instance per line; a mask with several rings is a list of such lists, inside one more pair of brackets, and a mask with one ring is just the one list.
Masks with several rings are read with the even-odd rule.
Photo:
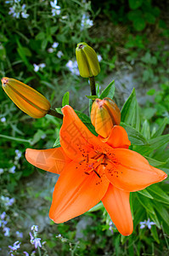
[[110, 136], [107, 138], [99, 136], [103, 143], [107, 143], [112, 148], [128, 148], [131, 142], [128, 139], [127, 131], [120, 125], [115, 125], [111, 131]]

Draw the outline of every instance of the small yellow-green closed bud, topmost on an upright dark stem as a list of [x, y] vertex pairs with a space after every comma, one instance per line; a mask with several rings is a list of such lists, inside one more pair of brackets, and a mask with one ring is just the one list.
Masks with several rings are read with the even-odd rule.
[[83, 78], [95, 77], [100, 73], [98, 56], [95, 50], [88, 44], [77, 44], [76, 60], [80, 75]]

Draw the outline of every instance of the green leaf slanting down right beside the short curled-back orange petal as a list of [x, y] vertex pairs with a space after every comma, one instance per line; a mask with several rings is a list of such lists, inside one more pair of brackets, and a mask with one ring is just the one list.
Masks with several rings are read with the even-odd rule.
[[127, 135], [132, 145], [149, 145], [141, 133], [131, 125], [121, 123], [121, 126], [127, 131]]

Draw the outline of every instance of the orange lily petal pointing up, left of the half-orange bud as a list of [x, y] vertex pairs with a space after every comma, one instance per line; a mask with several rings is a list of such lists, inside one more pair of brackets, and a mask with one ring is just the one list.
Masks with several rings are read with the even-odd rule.
[[[81, 119], [78, 118], [73, 108], [65, 106], [63, 125], [60, 129], [60, 145], [71, 160], [87, 154], [93, 149], [93, 145], [99, 143], [98, 137], [87, 129]], [[88, 151], [87, 151], [88, 148]]]

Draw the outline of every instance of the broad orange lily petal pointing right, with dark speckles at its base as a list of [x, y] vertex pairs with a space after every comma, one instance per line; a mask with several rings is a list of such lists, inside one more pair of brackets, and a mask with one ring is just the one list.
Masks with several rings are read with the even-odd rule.
[[167, 177], [165, 172], [149, 165], [141, 154], [125, 148], [113, 149], [115, 159], [105, 168], [110, 183], [126, 191], [145, 189]]

